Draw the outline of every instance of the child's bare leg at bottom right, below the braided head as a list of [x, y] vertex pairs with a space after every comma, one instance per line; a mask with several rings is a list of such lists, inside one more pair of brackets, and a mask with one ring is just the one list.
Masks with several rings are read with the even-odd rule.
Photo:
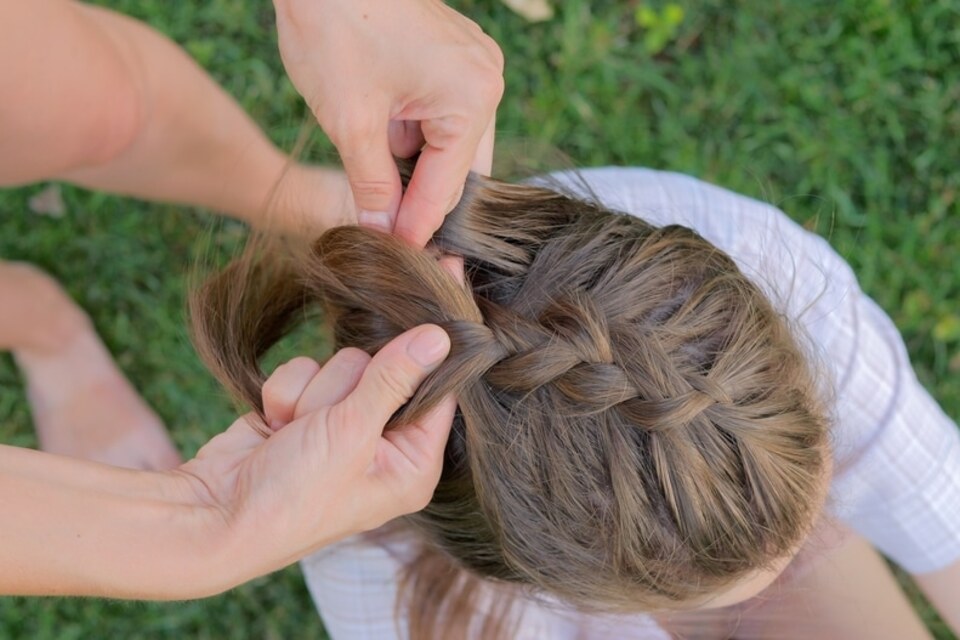
[[[835, 533], [826, 530], [819, 535]], [[756, 598], [733, 607], [666, 617], [662, 624], [690, 640], [930, 638], [880, 555], [859, 536], [839, 533], [838, 541], [814, 543], [801, 552], [796, 566]]]

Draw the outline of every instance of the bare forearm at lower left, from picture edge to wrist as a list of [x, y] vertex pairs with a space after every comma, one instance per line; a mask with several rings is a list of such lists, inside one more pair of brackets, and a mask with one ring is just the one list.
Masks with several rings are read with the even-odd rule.
[[220, 514], [176, 474], [0, 446], [0, 593], [182, 599], [241, 581]]

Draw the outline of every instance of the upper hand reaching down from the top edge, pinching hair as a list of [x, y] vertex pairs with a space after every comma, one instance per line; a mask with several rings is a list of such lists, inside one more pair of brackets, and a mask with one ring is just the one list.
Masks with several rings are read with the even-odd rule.
[[[422, 246], [488, 174], [503, 55], [439, 0], [274, 0], [284, 66], [350, 179], [361, 224]], [[401, 202], [393, 156], [422, 148]]]

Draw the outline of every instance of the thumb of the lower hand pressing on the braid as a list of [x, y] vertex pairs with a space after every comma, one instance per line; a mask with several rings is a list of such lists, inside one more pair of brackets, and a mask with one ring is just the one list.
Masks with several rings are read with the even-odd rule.
[[394, 338], [373, 357], [353, 392], [330, 409], [331, 423], [379, 438], [383, 427], [450, 352], [450, 338], [421, 325]]

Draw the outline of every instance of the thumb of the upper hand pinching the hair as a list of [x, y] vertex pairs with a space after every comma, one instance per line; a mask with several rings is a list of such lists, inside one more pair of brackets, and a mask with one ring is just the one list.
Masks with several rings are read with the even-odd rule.
[[387, 233], [393, 231], [401, 198], [388, 127], [384, 116], [382, 123], [370, 127], [349, 126], [334, 140], [353, 192], [357, 221]]

